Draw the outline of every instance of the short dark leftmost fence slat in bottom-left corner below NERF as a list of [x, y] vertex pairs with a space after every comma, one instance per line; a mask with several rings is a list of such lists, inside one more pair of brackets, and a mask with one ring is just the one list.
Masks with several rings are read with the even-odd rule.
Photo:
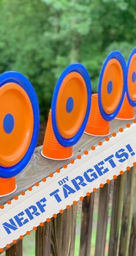
[[22, 256], [22, 240], [10, 247], [6, 251], [6, 256]]

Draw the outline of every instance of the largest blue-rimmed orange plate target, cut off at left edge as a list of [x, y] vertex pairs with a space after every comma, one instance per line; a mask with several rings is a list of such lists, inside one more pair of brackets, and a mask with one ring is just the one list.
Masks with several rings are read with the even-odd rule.
[[20, 173], [31, 159], [39, 131], [35, 90], [18, 72], [0, 75], [0, 177]]

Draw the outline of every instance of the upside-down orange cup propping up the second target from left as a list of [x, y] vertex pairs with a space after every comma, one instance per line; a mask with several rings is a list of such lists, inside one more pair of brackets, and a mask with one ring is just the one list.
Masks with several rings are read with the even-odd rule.
[[52, 122], [51, 122], [51, 111], [48, 115], [48, 122], [46, 127], [46, 134], [43, 142], [43, 150], [41, 155], [48, 159], [54, 160], [65, 160], [73, 156], [73, 147], [63, 147], [56, 140]]

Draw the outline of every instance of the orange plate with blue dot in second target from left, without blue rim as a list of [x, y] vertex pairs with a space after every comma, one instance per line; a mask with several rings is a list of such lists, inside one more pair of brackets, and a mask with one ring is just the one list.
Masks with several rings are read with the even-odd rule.
[[74, 137], [85, 118], [87, 108], [85, 81], [71, 72], [62, 82], [56, 102], [56, 122], [63, 138]]

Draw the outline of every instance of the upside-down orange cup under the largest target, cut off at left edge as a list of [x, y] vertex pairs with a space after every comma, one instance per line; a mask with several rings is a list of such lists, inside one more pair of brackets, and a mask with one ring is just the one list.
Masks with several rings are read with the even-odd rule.
[[16, 178], [0, 178], [0, 197], [7, 196], [16, 191]]

